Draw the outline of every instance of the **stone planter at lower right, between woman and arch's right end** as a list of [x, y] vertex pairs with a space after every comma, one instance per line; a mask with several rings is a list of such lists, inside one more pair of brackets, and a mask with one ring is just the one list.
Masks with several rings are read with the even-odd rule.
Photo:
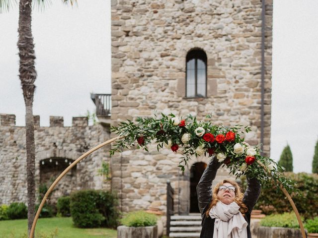
[[283, 227], [259, 227], [257, 229], [257, 238], [302, 238], [299, 229]]

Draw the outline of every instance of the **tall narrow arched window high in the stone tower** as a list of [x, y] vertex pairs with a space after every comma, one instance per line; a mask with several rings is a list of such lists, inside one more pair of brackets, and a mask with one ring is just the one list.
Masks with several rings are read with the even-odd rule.
[[207, 55], [203, 50], [193, 49], [186, 57], [186, 97], [207, 96]]

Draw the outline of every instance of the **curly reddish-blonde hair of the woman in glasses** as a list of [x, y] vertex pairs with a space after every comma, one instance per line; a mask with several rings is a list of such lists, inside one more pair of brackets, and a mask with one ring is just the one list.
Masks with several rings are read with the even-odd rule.
[[246, 205], [243, 203], [243, 193], [240, 191], [239, 184], [236, 181], [229, 180], [229, 179], [224, 179], [223, 181], [219, 182], [213, 189], [212, 193], [212, 201], [210, 203], [209, 209], [206, 211], [205, 215], [208, 217], [210, 210], [212, 207], [214, 207], [217, 202], [219, 201], [218, 199], [218, 192], [219, 192], [219, 187], [223, 185], [224, 183], [231, 183], [233, 186], [235, 186], [235, 198], [234, 201], [239, 205], [239, 211], [240, 213], [244, 216], [245, 213], [247, 212], [248, 208]]

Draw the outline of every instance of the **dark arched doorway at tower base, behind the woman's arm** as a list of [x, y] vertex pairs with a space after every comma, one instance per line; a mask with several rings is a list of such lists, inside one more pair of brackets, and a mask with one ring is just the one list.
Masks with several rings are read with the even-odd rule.
[[204, 162], [195, 163], [190, 169], [190, 213], [199, 213], [197, 185], [207, 167]]

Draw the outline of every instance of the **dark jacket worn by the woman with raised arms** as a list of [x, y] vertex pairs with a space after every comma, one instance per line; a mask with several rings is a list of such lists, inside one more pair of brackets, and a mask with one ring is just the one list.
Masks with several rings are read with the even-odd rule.
[[[216, 158], [212, 159], [197, 185], [199, 209], [202, 217], [200, 238], [213, 238], [215, 218], [211, 219], [210, 216], [207, 217], [205, 212], [209, 209], [212, 200], [212, 181], [215, 179], [220, 166], [221, 163], [219, 163]], [[260, 183], [257, 179], [248, 178], [247, 176], [246, 180], [247, 189], [244, 193], [243, 203], [247, 206], [248, 211], [245, 213], [244, 219], [247, 222], [247, 238], [251, 238], [249, 227], [250, 213], [258, 199]]]

